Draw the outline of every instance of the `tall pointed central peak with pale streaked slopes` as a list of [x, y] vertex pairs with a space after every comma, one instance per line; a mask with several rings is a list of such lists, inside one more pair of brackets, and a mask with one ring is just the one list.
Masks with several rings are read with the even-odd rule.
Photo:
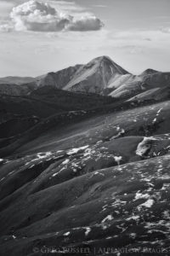
[[105, 94], [110, 80], [128, 72], [107, 56], [100, 56], [77, 70], [64, 90]]

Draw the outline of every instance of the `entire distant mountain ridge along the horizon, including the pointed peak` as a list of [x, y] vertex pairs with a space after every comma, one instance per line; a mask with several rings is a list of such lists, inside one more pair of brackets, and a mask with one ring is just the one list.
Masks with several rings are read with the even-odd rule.
[[[8, 87], [10, 85], [9, 80], [13, 79], [13, 77], [8, 78], [6, 78], [8, 84], [0, 84], [0, 92], [5, 90], [9, 95], [13, 95], [13, 93], [15, 95], [29, 95], [37, 88], [51, 86], [61, 90], [71, 90], [86, 94], [94, 93], [111, 96], [116, 99], [124, 98], [128, 100], [144, 91], [155, 88], [163, 87], [167, 88], [168, 91], [170, 86], [170, 73], [148, 68], [139, 75], [133, 75], [117, 65], [109, 56], [105, 55], [94, 58], [87, 64], [77, 64], [73, 67], [67, 67], [57, 72], [50, 72], [36, 78], [16, 77], [14, 81], [18, 81], [18, 84], [15, 85], [15, 89], [13, 86], [15, 91], [12, 89], [10, 91]], [[30, 82], [29, 79], [31, 79]], [[4, 80], [4, 78], [0, 79], [0, 83], [3, 83]], [[21, 81], [25, 81], [26, 83], [20, 84]], [[164, 90], [163, 95], [165, 94], [166, 92]], [[156, 94], [150, 94], [150, 99], [152, 97], [157, 98]], [[144, 99], [144, 95], [142, 98]]]

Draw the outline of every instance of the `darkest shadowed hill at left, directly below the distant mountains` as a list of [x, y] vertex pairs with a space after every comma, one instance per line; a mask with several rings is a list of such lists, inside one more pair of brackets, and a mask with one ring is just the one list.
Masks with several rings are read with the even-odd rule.
[[[32, 127], [35, 126], [36, 130], [38, 124], [40, 127], [44, 122], [54, 125], [62, 113], [66, 115], [71, 111], [101, 109], [111, 106], [112, 103], [111, 97], [77, 94], [48, 86], [34, 90], [29, 96], [3, 94], [0, 96], [0, 148], [16, 140]], [[54, 118], [50, 116], [55, 115], [57, 118], [54, 122]], [[38, 133], [42, 130], [40, 128]], [[37, 136], [37, 132], [35, 135], [33, 131], [30, 132], [31, 136]]]

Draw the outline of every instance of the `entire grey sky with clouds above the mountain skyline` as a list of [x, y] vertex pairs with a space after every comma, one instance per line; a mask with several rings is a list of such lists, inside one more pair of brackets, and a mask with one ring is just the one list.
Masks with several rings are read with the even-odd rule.
[[0, 77], [108, 55], [139, 74], [170, 72], [170, 0], [0, 0]]

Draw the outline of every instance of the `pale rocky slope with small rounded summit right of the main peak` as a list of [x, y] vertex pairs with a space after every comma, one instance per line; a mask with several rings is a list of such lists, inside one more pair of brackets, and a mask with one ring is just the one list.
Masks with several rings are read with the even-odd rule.
[[110, 93], [110, 96], [115, 98], [129, 99], [136, 96], [135, 99], [138, 101], [165, 99], [169, 96], [170, 73], [150, 72], [149, 69], [139, 76], [128, 76], [126, 81], [118, 86], [113, 84], [112, 88], [115, 90]]

